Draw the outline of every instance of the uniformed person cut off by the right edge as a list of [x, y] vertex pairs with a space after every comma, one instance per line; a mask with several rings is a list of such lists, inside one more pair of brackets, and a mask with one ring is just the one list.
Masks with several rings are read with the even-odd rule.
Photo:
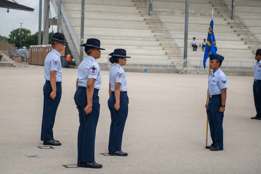
[[261, 120], [261, 49], [256, 51], [255, 59], [257, 60], [254, 66], [254, 84], [253, 84], [253, 93], [254, 93], [254, 102], [257, 114], [251, 119]]

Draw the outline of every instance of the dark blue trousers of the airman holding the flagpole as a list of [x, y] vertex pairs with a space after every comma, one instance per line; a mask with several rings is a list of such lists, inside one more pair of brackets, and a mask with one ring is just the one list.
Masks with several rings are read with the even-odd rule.
[[223, 148], [223, 118], [224, 112], [219, 112], [221, 107], [221, 97], [209, 99], [207, 104], [207, 118], [209, 120], [211, 146]]

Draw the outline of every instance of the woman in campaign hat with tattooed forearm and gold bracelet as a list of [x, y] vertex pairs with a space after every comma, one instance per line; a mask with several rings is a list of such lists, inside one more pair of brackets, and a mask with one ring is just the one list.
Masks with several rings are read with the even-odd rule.
[[78, 66], [78, 79], [74, 101], [79, 111], [80, 126], [78, 131], [78, 162], [77, 166], [100, 168], [94, 160], [94, 144], [96, 127], [100, 114], [98, 91], [102, 75], [96, 59], [100, 58], [100, 41], [87, 39], [84, 51], [87, 57]]

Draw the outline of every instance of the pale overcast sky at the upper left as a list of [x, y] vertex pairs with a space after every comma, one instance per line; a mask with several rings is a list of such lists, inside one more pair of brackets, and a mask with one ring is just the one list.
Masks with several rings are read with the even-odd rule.
[[[11, 1], [11, 0], [9, 0]], [[27, 7], [33, 8], [34, 11], [24, 11], [24, 10], [15, 10], [9, 9], [9, 13], [7, 13], [7, 8], [0, 7], [0, 34], [6, 37], [9, 37], [10, 31], [20, 28], [22, 24], [22, 28], [26, 28], [31, 30], [31, 34], [38, 32], [39, 26], [39, 0], [15, 0], [17, 3], [21, 5], [25, 5]], [[11, 1], [13, 2], [13, 1]], [[44, 3], [44, 1], [43, 1]], [[44, 4], [43, 4], [44, 6]], [[42, 9], [43, 9], [42, 6]], [[56, 13], [54, 8], [52, 7], [52, 3], [50, 2], [50, 10], [51, 16], [56, 17]], [[43, 15], [42, 12], [42, 31], [43, 31]], [[53, 26], [54, 32], [57, 32], [57, 27]], [[49, 32], [52, 31], [52, 26], [50, 26]]]

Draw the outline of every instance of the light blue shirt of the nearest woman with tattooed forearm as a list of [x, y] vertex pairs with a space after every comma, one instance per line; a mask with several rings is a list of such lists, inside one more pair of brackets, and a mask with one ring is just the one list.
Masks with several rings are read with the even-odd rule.
[[78, 86], [87, 87], [87, 80], [90, 78], [96, 79], [94, 88], [100, 89], [102, 85], [100, 66], [92, 56], [87, 56], [78, 66]]

